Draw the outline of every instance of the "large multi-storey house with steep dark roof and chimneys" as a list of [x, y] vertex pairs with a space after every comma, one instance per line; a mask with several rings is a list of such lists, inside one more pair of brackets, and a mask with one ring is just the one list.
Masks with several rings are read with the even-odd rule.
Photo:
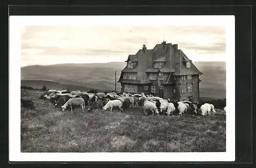
[[178, 50], [178, 44], [166, 43], [147, 50], [143, 45], [135, 55], [129, 55], [118, 82], [121, 92], [152, 94], [199, 102], [199, 76], [202, 73]]

